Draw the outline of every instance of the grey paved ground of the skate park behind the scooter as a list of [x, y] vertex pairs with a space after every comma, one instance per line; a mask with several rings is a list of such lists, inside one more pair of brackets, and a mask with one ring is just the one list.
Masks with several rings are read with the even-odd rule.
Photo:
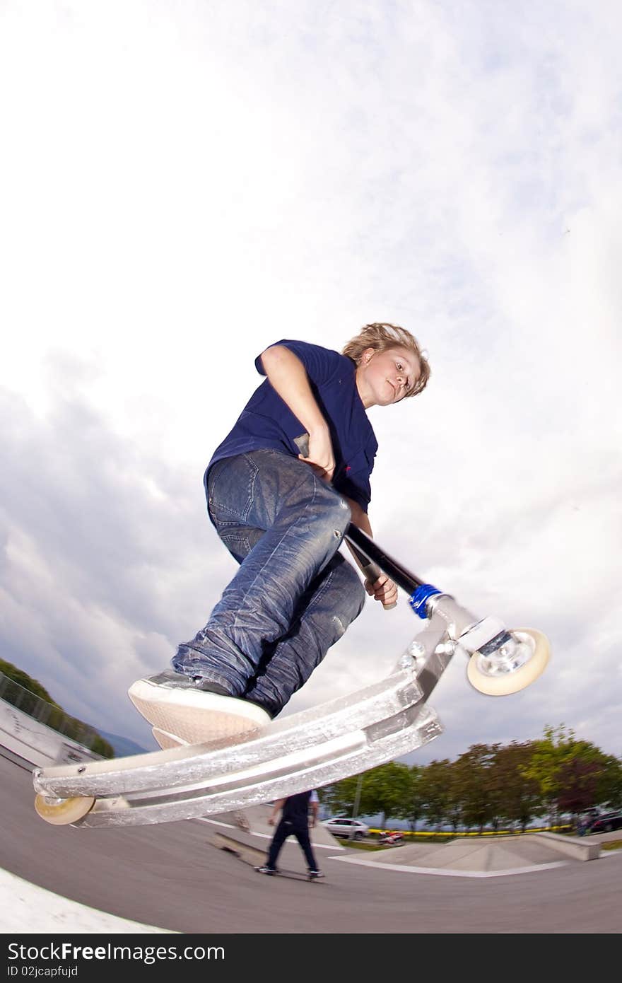
[[[318, 844], [326, 881], [310, 884], [256, 874], [210, 842], [214, 824], [206, 821], [119, 830], [51, 827], [34, 813], [28, 771], [0, 759], [0, 781], [0, 868], [146, 930], [618, 934], [622, 927], [622, 852], [588, 862], [558, 858], [554, 867], [531, 864], [518, 873], [482, 879], [447, 870], [436, 876], [438, 871], [421, 873], [398, 863], [411, 846], [377, 854], [380, 867], [370, 865], [368, 853], [360, 860], [354, 851], [328, 842]], [[290, 864], [304, 869], [294, 844], [287, 854]], [[52, 931], [41, 909], [29, 908], [28, 921], [23, 932]], [[66, 928], [95, 931], [70, 923]], [[115, 929], [106, 928], [102, 918], [101, 931]]]

